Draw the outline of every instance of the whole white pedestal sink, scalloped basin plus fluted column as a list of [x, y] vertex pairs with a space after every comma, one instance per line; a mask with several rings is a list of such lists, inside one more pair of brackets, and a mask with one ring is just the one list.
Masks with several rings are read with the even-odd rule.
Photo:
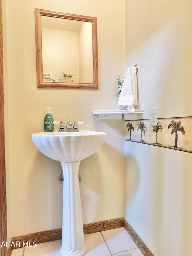
[[32, 134], [35, 146], [46, 156], [60, 161], [63, 169], [63, 226], [61, 256], [83, 256], [86, 252], [79, 191], [80, 161], [94, 154], [106, 133], [96, 131], [39, 132]]

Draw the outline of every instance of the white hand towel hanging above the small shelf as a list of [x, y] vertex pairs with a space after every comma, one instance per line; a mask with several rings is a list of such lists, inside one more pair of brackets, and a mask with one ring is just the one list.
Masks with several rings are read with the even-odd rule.
[[137, 105], [137, 71], [136, 67], [129, 67], [125, 74], [121, 93], [118, 97], [116, 109], [127, 109], [133, 113]]

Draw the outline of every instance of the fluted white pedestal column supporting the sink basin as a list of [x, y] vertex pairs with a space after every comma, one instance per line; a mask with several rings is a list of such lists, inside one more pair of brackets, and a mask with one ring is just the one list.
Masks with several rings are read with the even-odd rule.
[[63, 169], [63, 226], [61, 256], [83, 256], [84, 244], [78, 162], [61, 162]]

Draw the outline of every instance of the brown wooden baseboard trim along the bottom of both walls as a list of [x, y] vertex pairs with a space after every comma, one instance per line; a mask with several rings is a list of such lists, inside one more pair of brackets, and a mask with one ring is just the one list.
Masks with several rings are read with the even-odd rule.
[[[137, 235], [135, 230], [125, 220], [125, 218], [116, 218], [116, 219], [110, 219], [110, 220], [106, 220], [106, 221], [98, 221], [98, 222], [94, 222], [94, 223], [84, 224], [83, 231], [84, 231], [84, 234], [86, 235], [86, 234], [101, 232], [104, 230], [110, 230], [110, 229], [114, 229], [114, 228], [118, 228], [118, 227], [125, 228], [125, 230], [128, 232], [128, 234], [131, 236], [131, 238], [134, 240], [134, 242], [140, 249], [140, 251], [143, 253], [143, 255], [154, 256], [154, 254], [152, 254], [152, 252], [149, 250], [149, 248], [146, 246], [146, 244], [142, 241], [142, 239], [140, 239], [140, 237]], [[26, 244], [28, 246], [29, 245], [32, 246], [34, 241], [37, 244], [39, 244], [39, 243], [59, 240], [61, 238], [62, 238], [62, 229], [61, 228], [32, 233], [32, 234], [28, 234], [25, 236], [16, 236], [16, 237], [13, 237], [11, 240], [11, 243], [13, 244], [13, 246], [9, 247], [7, 255], [10, 256], [13, 249], [21, 248], [21, 247], [25, 246]]]

